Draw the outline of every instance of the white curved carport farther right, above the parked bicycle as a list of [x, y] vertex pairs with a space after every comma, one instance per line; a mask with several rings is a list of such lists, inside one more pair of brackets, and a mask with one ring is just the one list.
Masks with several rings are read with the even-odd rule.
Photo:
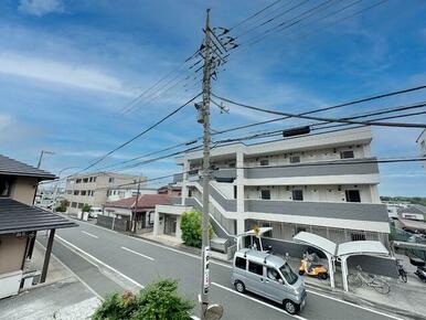
[[348, 258], [355, 255], [388, 256], [390, 252], [381, 242], [358, 241], [342, 243], [338, 246], [337, 257], [341, 262], [343, 289], [348, 288]]

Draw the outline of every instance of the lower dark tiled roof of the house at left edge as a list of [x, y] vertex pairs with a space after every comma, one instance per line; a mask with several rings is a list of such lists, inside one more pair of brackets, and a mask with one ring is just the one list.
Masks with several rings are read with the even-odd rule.
[[9, 198], [0, 198], [0, 234], [77, 226], [74, 222]]

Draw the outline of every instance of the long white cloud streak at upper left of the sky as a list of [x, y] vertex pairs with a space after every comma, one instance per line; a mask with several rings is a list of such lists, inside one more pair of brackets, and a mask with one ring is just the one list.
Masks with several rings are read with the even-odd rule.
[[135, 96], [134, 92], [124, 87], [120, 79], [99, 70], [17, 53], [0, 52], [0, 73], [88, 90]]

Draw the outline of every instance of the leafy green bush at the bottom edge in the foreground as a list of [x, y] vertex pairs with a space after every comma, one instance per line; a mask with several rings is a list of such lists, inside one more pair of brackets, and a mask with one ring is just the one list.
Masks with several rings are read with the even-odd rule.
[[193, 302], [178, 294], [178, 282], [162, 279], [138, 295], [125, 291], [108, 297], [92, 316], [93, 320], [189, 320]]

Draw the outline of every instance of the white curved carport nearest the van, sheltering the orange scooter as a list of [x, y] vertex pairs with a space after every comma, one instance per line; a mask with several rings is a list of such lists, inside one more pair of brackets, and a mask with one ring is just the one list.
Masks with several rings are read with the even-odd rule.
[[337, 244], [328, 238], [309, 232], [299, 232], [292, 238], [298, 243], [315, 247], [326, 254], [327, 260], [329, 262], [330, 286], [331, 288], [334, 288], [334, 257]]

